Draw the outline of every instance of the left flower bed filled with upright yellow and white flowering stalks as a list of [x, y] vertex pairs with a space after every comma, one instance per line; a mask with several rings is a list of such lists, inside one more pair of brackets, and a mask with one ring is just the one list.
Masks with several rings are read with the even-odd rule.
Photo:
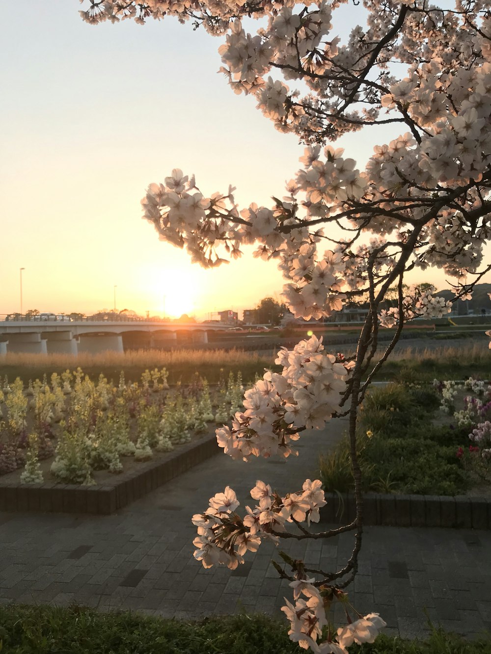
[[[27, 508], [18, 500], [26, 496], [24, 492], [14, 493], [15, 502], [5, 500], [7, 496], [12, 500], [13, 487], [39, 490], [46, 481], [50, 488], [60, 484], [116, 488], [118, 477], [137, 479], [154, 468], [166, 471], [162, 479], [170, 478], [168, 462], [175, 464], [183, 451], [196, 449], [201, 454], [186, 455], [187, 463], [179, 463], [178, 468], [189, 467], [204, 453], [209, 456], [211, 450], [203, 449], [203, 439], [209, 439], [215, 421], [227, 421], [242, 403], [240, 373], [230, 373], [228, 381], [222, 379], [213, 391], [198, 375], [187, 387], [177, 385], [172, 390], [166, 380], [166, 370], [155, 369], [145, 371], [138, 383], [125, 383], [124, 375], [118, 386], [102, 375], [93, 383], [80, 368], [61, 377], [54, 374], [50, 383], [46, 378], [29, 382], [27, 388], [20, 379], [13, 383], [5, 379], [0, 390], [4, 506]], [[47, 504], [57, 508], [44, 510], [59, 510], [59, 502]], [[124, 506], [122, 500], [116, 504]]]

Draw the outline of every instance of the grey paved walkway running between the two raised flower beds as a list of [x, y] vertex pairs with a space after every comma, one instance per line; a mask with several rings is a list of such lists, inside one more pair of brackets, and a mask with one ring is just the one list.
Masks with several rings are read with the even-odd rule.
[[[256, 479], [281, 491], [316, 478], [317, 455], [337, 441], [346, 421], [302, 436], [289, 461], [245, 464], [217, 455], [151, 496], [111, 516], [0, 513], [0, 602], [79, 602], [183, 618], [263, 611], [280, 617], [287, 582], [264, 543], [237, 570], [205, 570], [192, 557], [191, 515], [228, 484], [241, 504]], [[330, 569], [344, 564], [352, 534], [285, 542], [285, 551]], [[349, 591], [349, 589], [348, 589]], [[491, 532], [367, 527], [350, 598], [378, 611], [388, 631], [424, 636], [427, 619], [465, 636], [491, 630]]]

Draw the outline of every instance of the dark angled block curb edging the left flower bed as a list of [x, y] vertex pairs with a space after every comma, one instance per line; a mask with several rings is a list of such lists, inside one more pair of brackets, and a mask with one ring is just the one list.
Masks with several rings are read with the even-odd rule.
[[181, 445], [165, 461], [141, 463], [137, 470], [115, 475], [111, 485], [81, 486], [48, 481], [43, 484], [2, 483], [0, 511], [98, 513], [109, 515], [181, 475], [220, 451], [217, 438]]

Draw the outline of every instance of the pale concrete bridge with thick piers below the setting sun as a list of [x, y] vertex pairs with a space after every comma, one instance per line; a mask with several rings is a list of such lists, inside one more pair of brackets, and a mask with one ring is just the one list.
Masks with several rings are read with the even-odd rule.
[[[3, 318], [3, 319], [1, 319]], [[123, 334], [145, 337], [147, 347], [168, 347], [177, 342], [177, 332], [189, 332], [192, 343], [208, 343], [208, 332], [223, 326], [200, 322], [164, 322], [145, 318], [118, 320], [43, 320], [0, 317], [0, 354], [97, 354], [123, 352]]]

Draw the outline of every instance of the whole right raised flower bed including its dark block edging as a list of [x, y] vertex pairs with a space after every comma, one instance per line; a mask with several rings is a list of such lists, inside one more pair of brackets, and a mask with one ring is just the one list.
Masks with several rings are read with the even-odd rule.
[[[464, 402], [465, 389], [454, 390], [452, 400]], [[443, 400], [445, 392], [437, 413], [440, 400], [434, 391], [402, 385], [374, 389], [365, 398], [359, 434], [365, 525], [491, 529], [490, 486], [481, 480], [476, 490], [480, 478], [470, 469], [476, 453], [460, 455], [464, 448], [459, 445], [472, 427], [462, 424], [464, 412], [477, 415], [476, 407], [486, 403], [468, 400], [468, 411], [455, 411]], [[354, 520], [348, 441], [321, 457], [321, 478], [331, 491], [322, 520]]]

